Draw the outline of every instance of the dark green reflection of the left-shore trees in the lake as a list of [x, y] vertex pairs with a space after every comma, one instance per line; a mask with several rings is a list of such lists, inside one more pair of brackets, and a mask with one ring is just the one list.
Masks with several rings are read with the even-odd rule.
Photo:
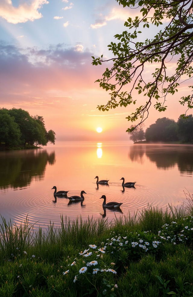
[[30, 150], [25, 152], [5, 152], [0, 155], [0, 188], [21, 188], [28, 186], [32, 179], [44, 177], [46, 165], [55, 163], [55, 152]]

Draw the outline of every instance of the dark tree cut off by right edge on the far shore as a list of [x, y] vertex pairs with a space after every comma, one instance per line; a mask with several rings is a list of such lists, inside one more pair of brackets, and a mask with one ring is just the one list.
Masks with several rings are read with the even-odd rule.
[[187, 118], [179, 117], [177, 121], [179, 138], [182, 142], [193, 143], [193, 117], [190, 114]]

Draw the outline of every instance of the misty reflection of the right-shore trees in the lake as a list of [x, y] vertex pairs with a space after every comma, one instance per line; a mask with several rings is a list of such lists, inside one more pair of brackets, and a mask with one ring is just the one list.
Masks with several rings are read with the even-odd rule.
[[193, 173], [192, 146], [133, 145], [129, 152], [129, 158], [131, 161], [142, 164], [144, 154], [159, 169], [168, 170], [177, 165], [180, 173]]

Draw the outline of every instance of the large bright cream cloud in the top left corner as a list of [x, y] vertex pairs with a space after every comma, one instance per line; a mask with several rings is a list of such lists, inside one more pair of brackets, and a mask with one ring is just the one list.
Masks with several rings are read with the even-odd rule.
[[34, 21], [42, 18], [42, 14], [38, 10], [48, 3], [47, 0], [32, 0], [30, 4], [23, 1], [18, 7], [14, 7], [11, 0], [1, 0], [0, 16], [12, 24]]

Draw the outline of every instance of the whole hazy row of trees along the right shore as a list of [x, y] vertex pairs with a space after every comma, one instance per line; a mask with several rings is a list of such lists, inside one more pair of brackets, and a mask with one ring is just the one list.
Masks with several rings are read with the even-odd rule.
[[177, 122], [163, 117], [157, 119], [146, 131], [144, 126], [140, 125], [129, 135], [133, 142], [146, 139], [147, 142], [193, 143], [193, 117], [192, 114], [185, 119], [179, 117]]

